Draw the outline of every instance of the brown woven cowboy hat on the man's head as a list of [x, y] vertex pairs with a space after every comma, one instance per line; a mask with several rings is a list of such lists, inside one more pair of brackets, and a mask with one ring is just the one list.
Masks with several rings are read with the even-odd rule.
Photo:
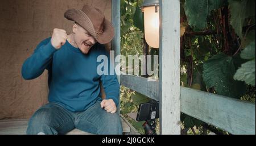
[[100, 44], [109, 43], [114, 37], [114, 27], [97, 8], [85, 5], [82, 10], [69, 9], [64, 17], [78, 23]]

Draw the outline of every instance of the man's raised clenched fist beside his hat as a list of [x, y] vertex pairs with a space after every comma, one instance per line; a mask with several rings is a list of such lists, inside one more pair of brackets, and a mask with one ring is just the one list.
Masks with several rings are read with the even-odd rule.
[[58, 28], [53, 29], [51, 43], [55, 49], [60, 49], [67, 41], [68, 35], [65, 30]]

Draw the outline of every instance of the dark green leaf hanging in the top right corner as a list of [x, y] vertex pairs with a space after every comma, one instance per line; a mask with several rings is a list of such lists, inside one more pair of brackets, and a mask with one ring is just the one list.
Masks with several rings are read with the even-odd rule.
[[249, 16], [255, 16], [255, 0], [229, 0], [230, 24], [236, 31], [236, 34], [242, 38], [242, 30], [245, 19]]

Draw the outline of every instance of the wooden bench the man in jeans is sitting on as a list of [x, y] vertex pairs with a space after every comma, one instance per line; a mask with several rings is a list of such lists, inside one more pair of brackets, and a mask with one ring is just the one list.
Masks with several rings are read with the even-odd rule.
[[[123, 134], [130, 134], [130, 127], [126, 120], [121, 116]], [[0, 120], [0, 135], [25, 135], [27, 130], [28, 119], [16, 120]], [[91, 135], [88, 132], [74, 129], [67, 133], [67, 135]]]

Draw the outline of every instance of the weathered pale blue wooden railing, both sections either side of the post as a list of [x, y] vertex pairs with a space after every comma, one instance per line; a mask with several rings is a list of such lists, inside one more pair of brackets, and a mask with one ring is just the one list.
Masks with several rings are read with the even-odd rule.
[[[121, 85], [159, 101], [159, 81], [122, 75]], [[180, 93], [181, 112], [231, 134], [255, 134], [254, 103], [188, 87], [180, 87]]]

